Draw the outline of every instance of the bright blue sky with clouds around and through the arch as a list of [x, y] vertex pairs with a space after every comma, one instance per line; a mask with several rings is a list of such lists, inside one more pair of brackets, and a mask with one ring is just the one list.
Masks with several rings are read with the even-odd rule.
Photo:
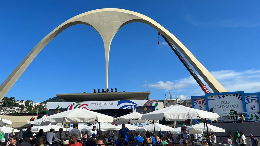
[[[1, 1], [0, 82], [64, 21], [99, 8], [146, 15], [175, 35], [227, 91], [260, 91], [259, 1]], [[151, 91], [181, 99], [204, 95], [158, 32], [130, 23], [115, 35], [109, 57], [109, 88]], [[203, 81], [203, 80], [202, 80]], [[204, 84], [205, 81], [203, 81]], [[207, 86], [208, 87], [208, 86]], [[6, 97], [40, 102], [59, 93], [105, 88], [105, 50], [92, 27], [74, 25], [33, 60]], [[208, 87], [209, 88], [209, 87]]]

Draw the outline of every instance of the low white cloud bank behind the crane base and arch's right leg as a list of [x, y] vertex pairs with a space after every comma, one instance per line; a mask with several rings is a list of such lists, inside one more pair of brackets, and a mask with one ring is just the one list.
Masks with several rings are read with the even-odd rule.
[[[244, 91], [244, 93], [260, 92], [260, 70], [220, 70], [212, 71], [211, 74], [220, 82], [220, 84], [228, 91]], [[198, 74], [197, 74], [198, 75]], [[198, 75], [203, 84], [212, 92], [211, 88]], [[185, 77], [174, 81], [158, 81], [154, 84], [145, 84], [150, 88], [170, 90], [173, 95], [178, 95], [181, 99], [190, 99], [191, 96], [204, 95], [204, 92], [193, 79], [193, 77]], [[163, 92], [165, 92], [163, 91]], [[184, 96], [185, 95], [185, 96]]]

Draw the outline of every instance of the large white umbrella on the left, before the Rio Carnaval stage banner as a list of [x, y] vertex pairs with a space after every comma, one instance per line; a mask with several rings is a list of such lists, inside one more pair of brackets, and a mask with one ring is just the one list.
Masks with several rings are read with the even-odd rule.
[[87, 122], [113, 122], [113, 117], [87, 109], [71, 109], [51, 116], [43, 117], [45, 121], [56, 123], [87, 123]]

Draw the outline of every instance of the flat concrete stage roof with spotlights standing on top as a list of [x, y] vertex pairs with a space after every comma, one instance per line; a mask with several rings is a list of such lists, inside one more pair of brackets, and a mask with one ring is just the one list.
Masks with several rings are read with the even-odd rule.
[[57, 97], [66, 101], [108, 101], [108, 100], [144, 100], [150, 91], [147, 92], [105, 92], [105, 93], [73, 93], [56, 94]]

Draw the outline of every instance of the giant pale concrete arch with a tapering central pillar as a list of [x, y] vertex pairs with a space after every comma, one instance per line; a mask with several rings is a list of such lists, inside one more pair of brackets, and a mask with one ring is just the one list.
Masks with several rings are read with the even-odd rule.
[[189, 63], [194, 67], [194, 69], [201, 75], [201, 77], [206, 81], [208, 86], [213, 90], [213, 92], [227, 92], [225, 88], [208, 72], [208, 70], [191, 54], [191, 52], [168, 30], [163, 26], [152, 20], [151, 18], [136, 13], [133, 11], [128, 11], [124, 9], [117, 8], [104, 8], [93, 10], [89, 12], [77, 15], [61, 25], [55, 28], [47, 36], [45, 36], [30, 53], [23, 59], [23, 61], [13, 70], [13, 72], [8, 76], [0, 86], [0, 100], [4, 98], [6, 93], [11, 89], [13, 84], [18, 80], [18, 78], [23, 74], [25, 69], [30, 65], [33, 59], [40, 53], [40, 51], [52, 40], [55, 36], [61, 33], [66, 28], [77, 25], [85, 24], [93, 27], [102, 37], [105, 47], [105, 57], [106, 57], [106, 88], [108, 88], [108, 60], [110, 45], [113, 37], [117, 31], [124, 25], [131, 22], [142, 22], [150, 25], [158, 32], [161, 32], [167, 39], [169, 39], [185, 56]]

